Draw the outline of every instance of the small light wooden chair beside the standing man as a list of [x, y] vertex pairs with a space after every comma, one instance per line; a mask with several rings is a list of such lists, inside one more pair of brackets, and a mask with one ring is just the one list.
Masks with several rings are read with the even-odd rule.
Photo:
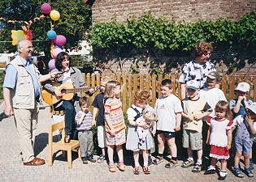
[[[49, 138], [48, 138], [48, 147], [49, 147], [49, 161], [48, 165], [53, 165], [53, 150], [64, 150], [67, 151], [67, 167], [72, 168], [72, 150], [78, 148], [78, 159], [81, 160], [80, 156], [80, 147], [77, 140], [71, 140], [69, 143], [64, 142], [65, 137], [65, 122], [61, 121], [49, 127]], [[62, 129], [62, 139], [59, 142], [53, 142], [53, 132], [55, 130]], [[64, 154], [64, 153], [63, 153]]]

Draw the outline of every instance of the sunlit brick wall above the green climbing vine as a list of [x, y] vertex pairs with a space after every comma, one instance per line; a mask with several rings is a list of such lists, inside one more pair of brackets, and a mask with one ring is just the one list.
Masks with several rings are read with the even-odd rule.
[[255, 0], [95, 0], [93, 21], [125, 21], [151, 11], [156, 17], [168, 20], [195, 22], [220, 17], [236, 20], [256, 8]]

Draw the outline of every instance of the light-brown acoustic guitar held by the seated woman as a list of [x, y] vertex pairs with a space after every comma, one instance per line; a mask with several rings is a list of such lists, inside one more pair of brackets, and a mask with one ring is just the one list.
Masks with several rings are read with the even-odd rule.
[[[56, 104], [61, 99], [70, 100], [73, 98], [76, 92], [81, 91], [89, 91], [91, 87], [80, 87], [80, 88], [74, 88], [72, 83], [57, 83], [52, 82], [51, 85], [55, 87], [55, 89], [58, 89], [63, 94], [61, 97], [57, 97], [56, 95], [52, 94], [50, 91], [46, 90], [46, 88], [43, 88], [41, 91], [42, 99], [45, 101], [46, 104]], [[99, 87], [95, 87], [95, 90], [99, 90]]]

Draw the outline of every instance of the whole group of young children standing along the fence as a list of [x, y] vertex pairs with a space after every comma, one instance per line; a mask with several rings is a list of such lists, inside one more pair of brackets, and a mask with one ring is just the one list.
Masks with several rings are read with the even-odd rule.
[[[254, 164], [250, 163], [250, 154], [256, 134], [256, 103], [247, 99], [248, 83], [239, 83], [236, 87], [236, 99], [228, 104], [223, 91], [218, 87], [220, 76], [216, 71], [210, 72], [206, 79], [206, 87], [200, 89], [195, 80], [186, 83], [186, 98], [180, 99], [171, 94], [170, 79], [164, 79], [160, 85], [161, 97], [156, 100], [154, 108], [149, 103], [150, 93], [136, 91], [133, 104], [128, 108], [128, 133], [122, 103], [118, 97], [121, 87], [117, 81], [108, 77], [102, 78], [101, 93], [93, 100], [93, 114], [89, 112], [89, 102], [80, 98], [81, 111], [76, 114], [76, 129], [80, 142], [83, 163], [94, 163], [92, 127], [98, 127], [98, 146], [102, 149], [97, 159], [102, 163], [106, 158], [107, 147], [109, 171], [115, 172], [116, 167], [125, 171], [123, 144], [132, 150], [134, 159], [133, 173], [140, 173], [139, 154], [143, 155], [142, 171], [150, 174], [149, 156], [154, 151], [154, 136], [158, 141], [158, 150], [153, 160], [155, 165], [163, 162], [164, 146], [171, 150], [171, 159], [165, 167], [178, 166], [176, 132], [182, 129], [183, 147], [188, 158], [181, 167], [192, 167], [193, 172], [202, 171], [202, 155], [204, 146], [210, 145], [210, 166], [205, 175], [217, 172], [216, 163], [220, 161], [219, 180], [227, 176], [227, 160], [229, 150], [236, 151], [233, 173], [243, 177], [239, 163], [244, 156], [245, 174], [253, 177]], [[232, 137], [234, 136], [234, 137]], [[232, 141], [233, 138], [233, 141]], [[232, 147], [233, 143], [233, 147]], [[115, 166], [113, 155], [116, 150], [119, 162]], [[193, 151], [197, 159], [193, 159]]]

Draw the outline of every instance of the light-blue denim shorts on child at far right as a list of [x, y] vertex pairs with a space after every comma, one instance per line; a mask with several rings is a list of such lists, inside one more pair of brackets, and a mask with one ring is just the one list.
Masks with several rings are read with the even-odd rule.
[[253, 140], [242, 140], [241, 138], [235, 138], [236, 152], [249, 155], [250, 150], [253, 148]]

